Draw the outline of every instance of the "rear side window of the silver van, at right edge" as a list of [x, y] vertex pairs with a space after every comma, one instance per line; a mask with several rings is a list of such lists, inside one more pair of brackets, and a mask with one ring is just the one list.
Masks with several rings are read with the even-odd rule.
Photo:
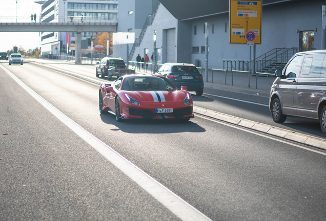
[[302, 78], [319, 78], [325, 54], [305, 55], [301, 71]]

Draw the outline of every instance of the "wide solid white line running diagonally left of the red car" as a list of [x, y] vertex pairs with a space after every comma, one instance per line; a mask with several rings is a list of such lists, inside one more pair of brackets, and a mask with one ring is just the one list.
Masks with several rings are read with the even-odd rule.
[[56, 107], [46, 101], [44, 98], [39, 96], [25, 83], [19, 80], [9, 70], [0, 67], [11, 76], [25, 91], [27, 91], [35, 100], [42, 104], [50, 113], [56, 118], [66, 124], [72, 131], [75, 132], [81, 139], [85, 140], [89, 145], [96, 149], [106, 159], [108, 159], [113, 165], [124, 172], [130, 179], [137, 183], [142, 189], [152, 195], [158, 202], [168, 208], [172, 213], [178, 216], [181, 220], [211, 220], [203, 213], [199, 212], [196, 208], [191, 206], [186, 201], [182, 200], [178, 195], [173, 193], [171, 190], [157, 182], [150, 175], [142, 171], [136, 165], [128, 161], [126, 158], [121, 156], [118, 152], [112, 149], [110, 146], [90, 134], [83, 127], [79, 126], [72, 119], [68, 118], [65, 114], [60, 112]]

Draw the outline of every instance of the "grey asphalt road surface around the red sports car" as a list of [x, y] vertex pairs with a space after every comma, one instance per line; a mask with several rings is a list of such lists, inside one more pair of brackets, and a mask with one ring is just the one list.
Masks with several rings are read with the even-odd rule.
[[[212, 220], [326, 215], [324, 151], [200, 116], [118, 123], [99, 114], [98, 85], [29, 63], [0, 65]], [[2, 218], [178, 220], [3, 69], [0, 78]]]

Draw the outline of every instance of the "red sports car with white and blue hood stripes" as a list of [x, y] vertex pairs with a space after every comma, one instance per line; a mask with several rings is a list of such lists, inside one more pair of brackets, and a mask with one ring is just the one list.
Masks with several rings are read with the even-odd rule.
[[181, 90], [159, 75], [125, 75], [99, 89], [99, 112], [115, 119], [194, 118], [193, 101], [186, 86]]

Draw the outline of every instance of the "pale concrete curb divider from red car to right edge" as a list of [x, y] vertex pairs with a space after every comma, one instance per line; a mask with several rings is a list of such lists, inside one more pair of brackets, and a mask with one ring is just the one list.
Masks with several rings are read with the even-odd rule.
[[238, 125], [238, 126], [245, 127], [248, 129], [263, 132], [264, 134], [284, 138], [284, 139], [287, 139], [290, 141], [294, 141], [297, 143], [301, 143], [301, 144], [305, 144], [308, 146], [326, 150], [326, 140], [325, 139], [320, 139], [320, 138], [316, 138], [313, 136], [300, 134], [298, 132], [294, 132], [291, 130], [286, 130], [286, 129], [282, 129], [279, 127], [262, 124], [262, 123], [254, 122], [251, 120], [242, 119], [239, 117], [222, 114], [219, 112], [214, 112], [209, 109], [205, 109], [205, 108], [201, 108], [201, 107], [197, 107], [197, 106], [193, 106], [193, 109], [194, 109], [195, 114], [203, 115], [203, 116], [210, 117], [210, 118], [220, 120], [220, 121], [225, 121], [225, 122], [228, 122], [228, 123], [231, 123], [234, 125]]

